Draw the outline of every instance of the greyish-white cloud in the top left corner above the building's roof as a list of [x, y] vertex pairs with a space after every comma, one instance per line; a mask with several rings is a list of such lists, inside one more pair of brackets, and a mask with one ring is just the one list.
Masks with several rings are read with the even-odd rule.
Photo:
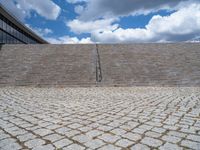
[[20, 20], [30, 17], [31, 11], [46, 19], [56, 20], [61, 11], [61, 8], [51, 0], [0, 0], [0, 3]]

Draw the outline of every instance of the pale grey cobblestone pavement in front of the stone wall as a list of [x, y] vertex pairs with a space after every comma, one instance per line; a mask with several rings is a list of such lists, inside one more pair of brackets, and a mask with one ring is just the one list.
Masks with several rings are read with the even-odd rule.
[[200, 149], [200, 88], [0, 88], [0, 149]]

